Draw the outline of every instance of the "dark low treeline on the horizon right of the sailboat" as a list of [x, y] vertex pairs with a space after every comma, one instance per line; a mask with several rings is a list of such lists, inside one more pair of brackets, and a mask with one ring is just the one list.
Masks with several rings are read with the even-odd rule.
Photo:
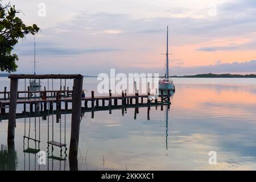
[[232, 75], [230, 73], [226, 74], [199, 74], [199, 75], [186, 75], [186, 76], [172, 76], [173, 78], [256, 78], [255, 74], [250, 75]]

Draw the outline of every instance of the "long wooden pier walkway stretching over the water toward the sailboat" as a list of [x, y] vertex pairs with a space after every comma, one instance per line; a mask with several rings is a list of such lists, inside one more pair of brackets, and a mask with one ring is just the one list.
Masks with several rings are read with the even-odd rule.
[[[92, 97], [84, 97], [81, 98], [81, 101], [83, 102], [82, 106], [85, 109], [88, 108], [94, 108], [94, 107], [112, 107], [112, 106], [129, 106], [129, 105], [143, 105], [143, 104], [158, 104], [158, 102], [161, 104], [163, 102], [170, 101], [171, 94], [158, 94], [158, 95], [149, 95], [149, 94], [141, 94], [138, 93], [133, 95], [127, 95], [122, 94], [122, 96], [96, 96], [94, 97], [94, 92], [92, 91]], [[160, 98], [160, 101], [158, 101], [158, 98]], [[72, 97], [64, 97], [63, 95], [57, 96], [57, 97], [47, 97], [47, 98], [22, 98], [16, 100], [16, 104], [20, 105], [23, 104], [24, 112], [27, 110], [26, 105], [30, 105], [30, 112], [32, 111], [47, 111], [47, 110], [61, 110], [61, 104], [64, 103], [65, 110], [69, 109], [68, 103], [72, 103], [73, 98]], [[146, 100], [146, 101], [145, 101]], [[118, 102], [121, 101], [121, 102]], [[53, 108], [53, 104], [55, 105], [55, 108]], [[7, 114], [6, 109], [10, 105], [10, 100], [2, 100], [0, 101], [0, 110], [1, 114]], [[40, 106], [39, 106], [40, 105]], [[88, 105], [90, 107], [88, 107]]]

